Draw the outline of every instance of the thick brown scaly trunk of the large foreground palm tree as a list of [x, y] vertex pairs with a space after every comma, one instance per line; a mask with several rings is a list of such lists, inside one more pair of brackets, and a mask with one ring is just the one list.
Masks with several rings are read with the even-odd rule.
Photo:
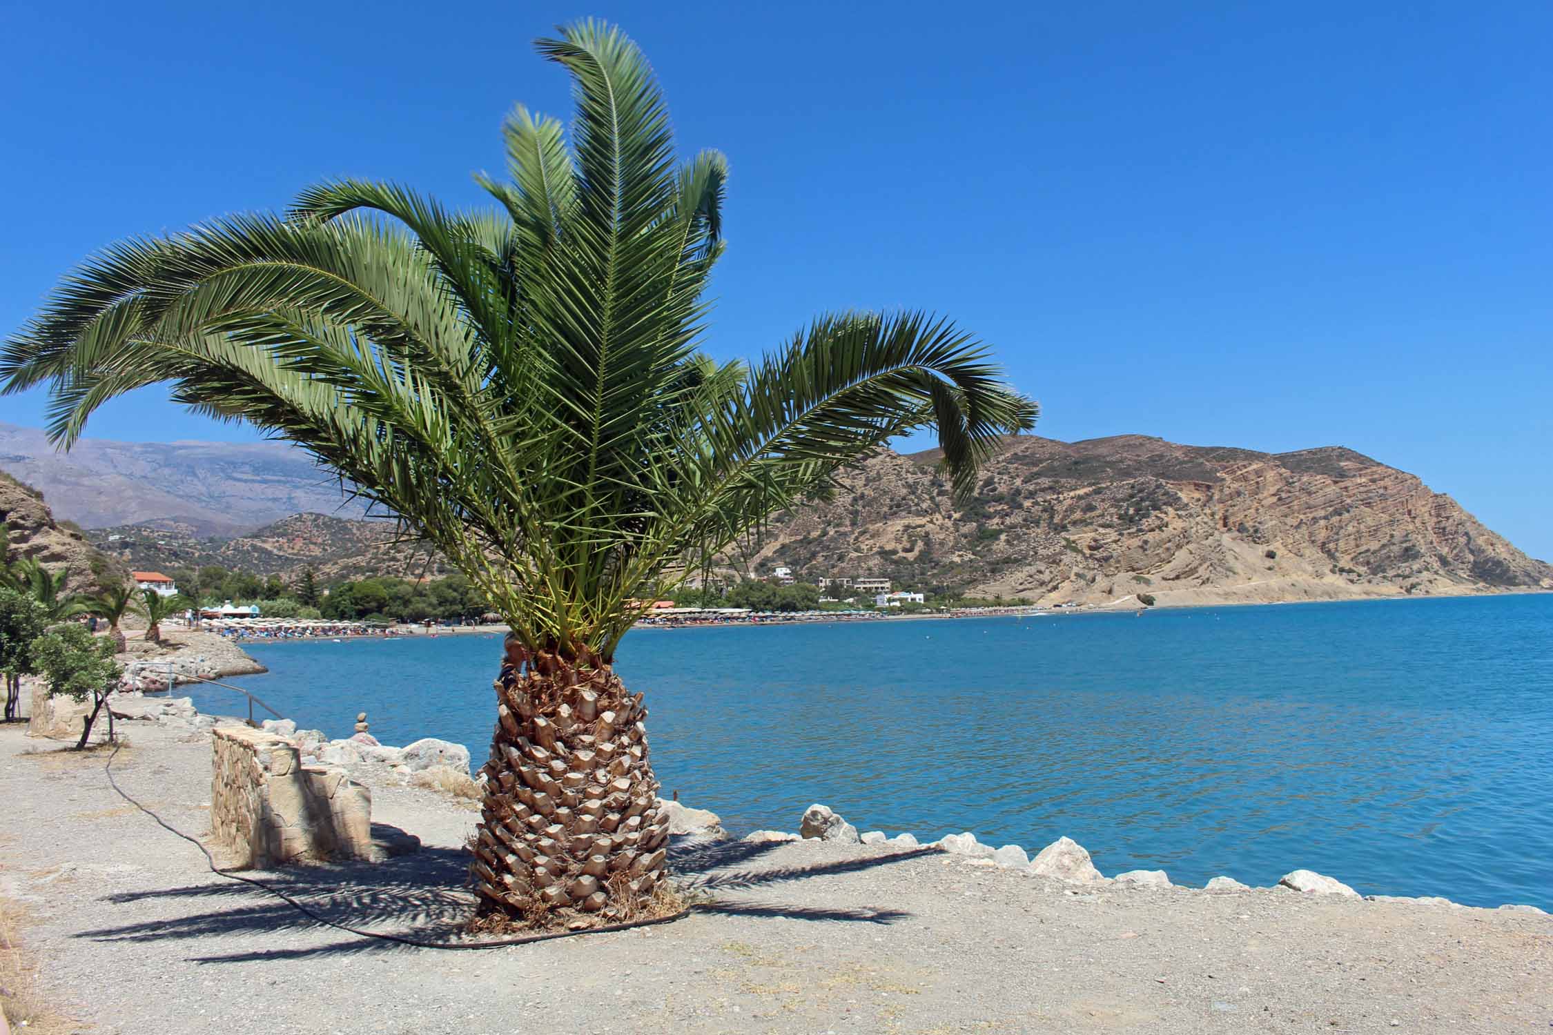
[[[641, 694], [609, 666], [540, 655], [495, 681], [497, 725], [471, 875], [481, 916], [631, 919], [663, 880], [668, 816], [648, 762]], [[564, 919], [564, 914], [562, 914]]]

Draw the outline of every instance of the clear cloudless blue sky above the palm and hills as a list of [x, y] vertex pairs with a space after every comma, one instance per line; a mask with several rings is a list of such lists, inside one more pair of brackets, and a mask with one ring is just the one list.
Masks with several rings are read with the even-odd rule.
[[[584, 16], [728, 155], [713, 354], [926, 307], [1042, 434], [1348, 445], [1553, 559], [1541, 2], [9, 5], [0, 332], [112, 239], [321, 177], [480, 200], [514, 102], [568, 115], [530, 42]], [[253, 438], [158, 389], [89, 433]]]

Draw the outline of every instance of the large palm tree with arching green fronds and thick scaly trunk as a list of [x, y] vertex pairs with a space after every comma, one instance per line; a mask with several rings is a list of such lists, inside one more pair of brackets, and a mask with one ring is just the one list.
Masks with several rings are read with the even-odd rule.
[[[576, 118], [519, 107], [495, 211], [329, 182], [87, 261], [0, 352], [48, 383], [71, 444], [154, 382], [309, 450], [430, 540], [512, 630], [472, 843], [480, 912], [626, 916], [668, 821], [641, 694], [615, 675], [637, 601], [933, 427], [961, 497], [1033, 402], [971, 335], [916, 312], [823, 315], [750, 368], [697, 352], [727, 168], [679, 164], [637, 47], [584, 22], [542, 39]], [[651, 905], [648, 902], [648, 905]]]

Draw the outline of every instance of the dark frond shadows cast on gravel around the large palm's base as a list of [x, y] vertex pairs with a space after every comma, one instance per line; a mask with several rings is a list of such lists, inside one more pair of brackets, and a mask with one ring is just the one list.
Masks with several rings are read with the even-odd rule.
[[[916, 858], [926, 852], [899, 852], [814, 866], [752, 866], [778, 847], [781, 846], [682, 843], [671, 852], [674, 880], [693, 894], [744, 891], [804, 877], [860, 872]], [[466, 888], [467, 864], [467, 853], [463, 849], [422, 847], [419, 852], [384, 863], [292, 866], [236, 875], [244, 880], [211, 878], [205, 883], [172, 888], [112, 892], [102, 895], [101, 902], [110, 906], [185, 902], [197, 903], [199, 908], [172, 919], [98, 926], [75, 937], [127, 943], [186, 940], [202, 950], [214, 950], [186, 957], [200, 964], [384, 954], [415, 948], [363, 933], [457, 945], [478, 940], [464, 934], [464, 923], [475, 905], [474, 894]], [[307, 912], [280, 895], [295, 900]], [[696, 902], [691, 908], [700, 914], [727, 917], [877, 925], [912, 916], [899, 909], [825, 908], [727, 897]], [[354, 931], [334, 928], [339, 937], [320, 945], [318, 928], [331, 925], [343, 925]], [[264, 948], [250, 948], [256, 939], [264, 942]]]

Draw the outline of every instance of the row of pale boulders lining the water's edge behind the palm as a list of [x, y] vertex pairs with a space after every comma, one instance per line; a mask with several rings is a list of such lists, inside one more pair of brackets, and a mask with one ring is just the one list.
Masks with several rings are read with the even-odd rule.
[[[158, 701], [152, 714], [144, 717], [158, 718], [165, 723], [186, 726], [189, 732], [208, 732], [216, 720], [199, 715], [189, 698], [174, 701]], [[443, 791], [453, 798], [469, 799], [471, 807], [485, 790], [483, 776], [469, 774], [469, 748], [424, 737], [402, 748], [379, 743], [365, 729], [365, 715], [357, 720], [357, 731], [345, 739], [331, 740], [318, 729], [298, 729], [297, 723], [283, 720], [266, 720], [261, 728], [286, 742], [295, 745], [301, 765], [343, 767], [353, 779], [365, 782], [402, 782], [413, 787]], [[707, 808], [691, 808], [679, 801], [662, 801], [669, 821], [669, 836], [676, 844], [697, 844], [728, 841], [731, 835], [722, 827], [722, 818]], [[1244, 884], [1233, 877], [1214, 877], [1204, 888], [1176, 884], [1165, 871], [1132, 869], [1106, 877], [1095, 867], [1095, 861], [1084, 846], [1072, 838], [1059, 836], [1051, 844], [1031, 855], [1019, 844], [992, 847], [977, 839], [975, 833], [947, 833], [936, 841], [918, 841], [912, 833], [887, 836], [882, 830], [867, 830], [859, 833], [857, 827], [837, 815], [826, 805], [809, 805], [798, 822], [798, 833], [786, 830], [753, 830], [744, 838], [750, 844], [818, 839], [832, 844], [856, 844], [859, 847], [885, 849], [938, 849], [949, 861], [960, 861], [964, 866], [997, 867], [1027, 877], [1054, 878], [1073, 884], [1072, 894], [1082, 894], [1086, 886], [1135, 886], [1149, 889], [1176, 889], [1196, 894], [1238, 894], [1259, 891]], [[1461, 909], [1460, 903], [1440, 895], [1360, 895], [1357, 891], [1334, 877], [1317, 874], [1308, 869], [1294, 869], [1284, 874], [1273, 889], [1292, 891], [1311, 895], [1339, 895], [1343, 898], [1364, 898], [1368, 902], [1401, 902], [1430, 906], [1449, 906]], [[1533, 905], [1506, 903], [1499, 909], [1513, 912], [1531, 912], [1545, 916], [1547, 912]]]

